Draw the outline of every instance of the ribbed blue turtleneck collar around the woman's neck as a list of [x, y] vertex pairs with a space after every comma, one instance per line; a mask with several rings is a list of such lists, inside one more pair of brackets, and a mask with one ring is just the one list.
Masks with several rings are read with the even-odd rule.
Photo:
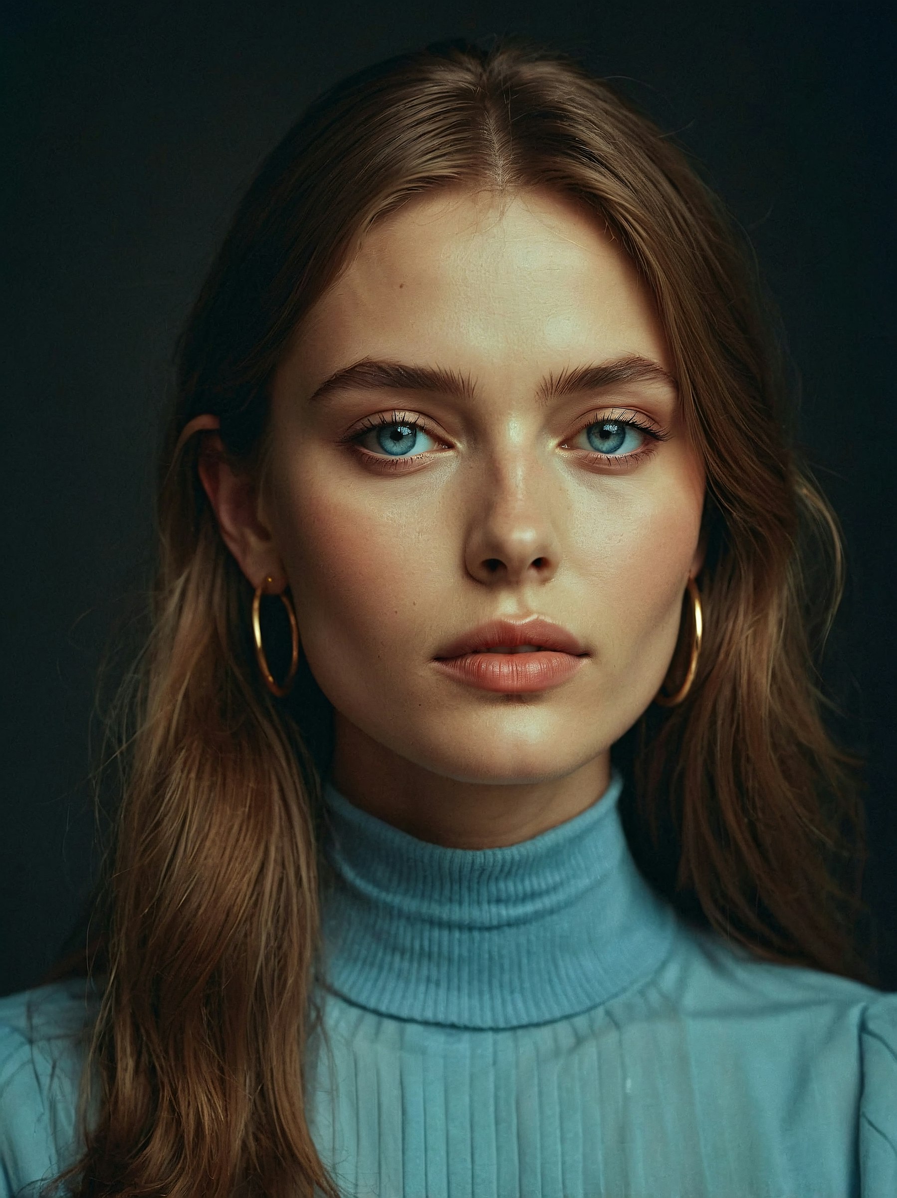
[[672, 910], [629, 852], [617, 770], [592, 806], [503, 848], [444, 848], [323, 791], [325, 984], [383, 1015], [462, 1028], [565, 1018], [647, 978]]

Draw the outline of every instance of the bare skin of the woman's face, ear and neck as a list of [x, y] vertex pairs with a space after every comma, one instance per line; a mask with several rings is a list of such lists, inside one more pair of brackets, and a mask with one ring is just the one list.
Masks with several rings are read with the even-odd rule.
[[[265, 484], [204, 460], [249, 582], [291, 589], [334, 707], [331, 776], [357, 806], [484, 848], [606, 789], [611, 745], [661, 686], [703, 562], [704, 473], [674, 383], [546, 394], [545, 380], [635, 356], [673, 373], [647, 291], [592, 213], [547, 190], [503, 204], [425, 193], [369, 231], [297, 329], [273, 381]], [[474, 394], [351, 386], [313, 399], [365, 358], [450, 370]], [[425, 425], [404, 450], [419, 456], [377, 470], [394, 460], [377, 426], [354, 447], [345, 437], [394, 410]], [[608, 413], [666, 440], [632, 430], [611, 461], [588, 435]], [[480, 623], [533, 613], [589, 654], [562, 685], [495, 694], [434, 665]]]

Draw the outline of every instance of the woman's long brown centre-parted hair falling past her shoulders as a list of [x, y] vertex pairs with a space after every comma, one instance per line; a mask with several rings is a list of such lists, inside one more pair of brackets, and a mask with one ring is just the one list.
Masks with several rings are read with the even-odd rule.
[[97, 1113], [62, 1175], [78, 1194], [337, 1194], [301, 1084], [321, 762], [297, 703], [261, 684], [250, 588], [199, 484], [198, 438], [176, 446], [212, 412], [232, 461], [257, 471], [287, 339], [375, 220], [449, 184], [548, 187], [594, 210], [655, 298], [704, 459], [698, 673], [684, 703], [653, 707], [616, 746], [642, 869], [758, 957], [862, 975], [860, 804], [818, 674], [841, 540], [790, 448], [750, 249], [685, 153], [576, 62], [516, 42], [430, 48], [308, 109], [241, 204], [180, 341], [96, 963]]

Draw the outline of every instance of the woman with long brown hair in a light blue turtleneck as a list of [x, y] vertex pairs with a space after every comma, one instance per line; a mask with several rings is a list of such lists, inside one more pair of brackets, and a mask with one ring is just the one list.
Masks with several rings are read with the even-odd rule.
[[0, 1004], [4, 1192], [897, 1192], [745, 260], [546, 52], [274, 151], [181, 340], [90, 981]]

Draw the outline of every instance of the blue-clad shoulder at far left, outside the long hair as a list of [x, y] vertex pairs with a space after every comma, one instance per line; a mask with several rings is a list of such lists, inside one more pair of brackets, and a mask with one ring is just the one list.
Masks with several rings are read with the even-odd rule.
[[0, 1194], [67, 1163], [97, 1004], [84, 979], [0, 998]]

